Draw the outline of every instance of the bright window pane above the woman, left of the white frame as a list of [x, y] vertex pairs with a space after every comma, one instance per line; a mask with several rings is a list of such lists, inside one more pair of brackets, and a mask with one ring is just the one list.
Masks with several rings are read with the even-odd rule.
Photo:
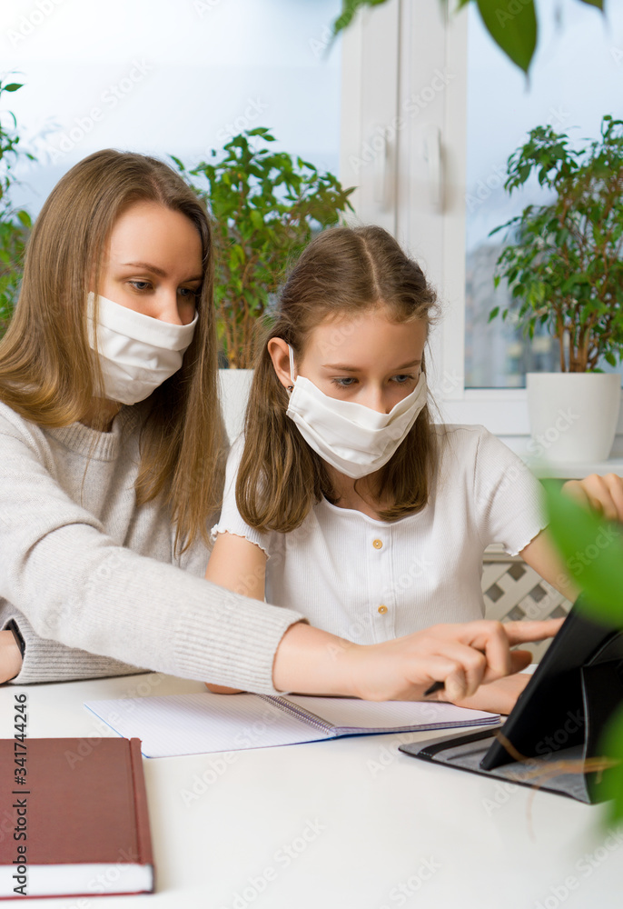
[[[274, 147], [337, 173], [341, 0], [3, 0], [5, 95], [39, 161], [15, 203], [36, 214], [58, 179], [106, 147], [196, 164], [267, 126]], [[3, 123], [5, 121], [3, 120]]]

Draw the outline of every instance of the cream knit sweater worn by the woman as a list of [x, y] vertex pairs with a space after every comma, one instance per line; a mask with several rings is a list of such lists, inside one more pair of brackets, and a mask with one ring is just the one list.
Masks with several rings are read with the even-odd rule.
[[156, 670], [275, 694], [300, 614], [210, 584], [208, 550], [173, 554], [171, 515], [137, 507], [142, 405], [110, 433], [44, 429], [0, 403], [0, 628], [25, 639], [14, 684]]

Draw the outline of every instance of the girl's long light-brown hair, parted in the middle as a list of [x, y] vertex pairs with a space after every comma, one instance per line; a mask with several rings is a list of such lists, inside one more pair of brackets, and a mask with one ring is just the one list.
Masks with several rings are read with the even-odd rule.
[[[395, 322], [420, 320], [428, 330], [435, 307], [435, 292], [420, 266], [381, 227], [331, 227], [312, 240], [258, 348], [236, 482], [236, 503], [247, 524], [288, 533], [321, 496], [336, 501], [320, 455], [286, 416], [288, 395], [275, 375], [268, 339], [282, 338], [302, 358], [313, 328], [326, 318], [382, 308]], [[425, 372], [423, 358], [421, 368]], [[379, 512], [382, 520], [420, 511], [428, 502], [436, 438], [427, 405], [379, 472], [375, 492], [390, 502]]]

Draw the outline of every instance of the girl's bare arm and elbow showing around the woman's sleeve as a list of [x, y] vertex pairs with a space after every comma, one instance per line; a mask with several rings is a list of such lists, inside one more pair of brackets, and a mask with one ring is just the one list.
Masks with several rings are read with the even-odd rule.
[[[243, 536], [218, 534], [205, 572], [205, 580], [220, 584], [236, 594], [263, 600], [266, 554]], [[237, 694], [240, 688], [205, 683], [213, 694]]]

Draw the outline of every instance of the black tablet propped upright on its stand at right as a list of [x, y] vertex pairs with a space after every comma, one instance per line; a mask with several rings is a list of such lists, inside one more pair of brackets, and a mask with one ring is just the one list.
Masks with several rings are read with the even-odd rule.
[[587, 744], [590, 752], [623, 703], [623, 633], [589, 618], [586, 602], [581, 609], [578, 604], [481, 759], [482, 770], [574, 745]]

